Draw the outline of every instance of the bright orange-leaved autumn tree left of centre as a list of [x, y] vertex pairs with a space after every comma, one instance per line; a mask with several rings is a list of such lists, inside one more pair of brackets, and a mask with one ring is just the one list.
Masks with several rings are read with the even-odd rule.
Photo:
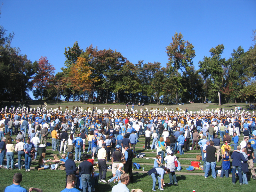
[[74, 90], [91, 92], [94, 83], [98, 82], [97, 77], [92, 77], [92, 70], [94, 68], [88, 65], [88, 59], [78, 57], [75, 64], [70, 67], [69, 78]]

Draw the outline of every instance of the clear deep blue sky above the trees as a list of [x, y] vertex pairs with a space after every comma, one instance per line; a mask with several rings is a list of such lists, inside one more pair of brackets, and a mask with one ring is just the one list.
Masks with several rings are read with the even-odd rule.
[[[233, 49], [252, 45], [256, 29], [255, 0], [2, 0], [0, 25], [14, 32], [12, 46], [20, 47], [32, 62], [46, 56], [56, 68], [64, 67], [64, 48], [78, 41], [83, 50], [121, 52], [130, 62], [168, 62], [166, 46], [175, 31], [195, 46], [193, 63], [224, 44], [222, 57]], [[254, 19], [253, 19], [254, 18]]]

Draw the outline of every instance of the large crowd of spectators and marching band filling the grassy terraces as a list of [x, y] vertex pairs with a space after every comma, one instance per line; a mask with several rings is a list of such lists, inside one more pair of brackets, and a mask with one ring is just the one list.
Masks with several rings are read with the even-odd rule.
[[[239, 144], [238, 136], [242, 134], [244, 140]], [[12, 144], [12, 135], [16, 135], [15, 147]], [[205, 178], [208, 177], [210, 168], [212, 177], [216, 178], [215, 154], [217, 153], [217, 162], [219, 162], [221, 152], [221, 178], [224, 175], [228, 177], [231, 158], [233, 159], [232, 178], [237, 169], [240, 185], [248, 184], [246, 179], [248, 166], [251, 169], [252, 179], [256, 179], [253, 167], [253, 162], [256, 161], [254, 160], [256, 156], [254, 112], [250, 114], [237, 108], [234, 111], [201, 109], [190, 113], [187, 109], [160, 111], [147, 108], [141, 108], [138, 112], [134, 108], [129, 110], [127, 106], [125, 110], [110, 107], [102, 111], [94, 107], [85, 111], [81, 107], [74, 107], [70, 111], [68, 108], [62, 111], [60, 107], [47, 110], [42, 106], [37, 109], [3, 108], [0, 121], [0, 140], [2, 139], [0, 166], [3, 167], [6, 156], [7, 168], [13, 169], [13, 154], [17, 152], [18, 169], [21, 169], [23, 157], [25, 169], [29, 172], [32, 159], [37, 159], [38, 146], [40, 143], [46, 146], [48, 135], [52, 138], [53, 153], [58, 151], [62, 154], [62, 159], [59, 160], [56, 155], [53, 161], [45, 160], [45, 153], [42, 153], [38, 160], [38, 170], [55, 170], [60, 162], [63, 163], [62, 168], [66, 170], [66, 189], [63, 191], [71, 191], [67, 188], [75, 186], [76, 180], [72, 175], [78, 172], [82, 177], [83, 189], [94, 191], [91, 185], [93, 166], [87, 161], [89, 156], [98, 159], [99, 182], [117, 182], [112, 191], [120, 189], [129, 191], [126, 186], [129, 182], [134, 182], [132, 159], [136, 143], [142, 135], [145, 136], [145, 150], [157, 149], [154, 167], [148, 172], [153, 179], [153, 191], [156, 190], [156, 178], [159, 183], [158, 189], [164, 190], [163, 181], [166, 173], [170, 178], [168, 184], [178, 184], [175, 176], [174, 162], [175, 159], [177, 160], [175, 154], [178, 152], [183, 155], [184, 151], [194, 150], [194, 147], [195, 150], [201, 150]], [[230, 155], [231, 142], [234, 144], [232, 155]], [[73, 160], [74, 156], [75, 160]], [[50, 161], [54, 164], [46, 165]], [[76, 161], [82, 161], [79, 169], [76, 168]], [[113, 178], [106, 181], [108, 161], [112, 162]], [[162, 168], [160, 165], [164, 161], [166, 167]], [[235, 182], [236, 180], [233, 179], [232, 183]], [[17, 183], [19, 182], [15, 182], [15, 185]]]

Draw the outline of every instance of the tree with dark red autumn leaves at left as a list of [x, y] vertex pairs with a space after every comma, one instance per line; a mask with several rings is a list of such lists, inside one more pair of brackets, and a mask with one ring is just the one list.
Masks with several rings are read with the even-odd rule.
[[37, 63], [37, 72], [32, 80], [34, 88], [36, 88], [36, 90], [33, 90], [33, 95], [35, 98], [40, 97], [42, 100], [43, 95], [47, 92], [46, 89], [48, 88], [49, 83], [54, 78], [53, 74], [55, 68], [49, 63], [46, 56], [42, 56]]

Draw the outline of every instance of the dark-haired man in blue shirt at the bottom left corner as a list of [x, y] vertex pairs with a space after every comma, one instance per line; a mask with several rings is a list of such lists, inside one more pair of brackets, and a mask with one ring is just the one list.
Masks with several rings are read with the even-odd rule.
[[[15, 192], [28, 192], [27, 189], [20, 187], [20, 182], [22, 181], [22, 174], [21, 173], [14, 173], [12, 182], [13, 184], [6, 187], [4, 192], [15, 191]], [[42, 189], [39, 188], [29, 188], [29, 191], [37, 191], [43, 192]]]

